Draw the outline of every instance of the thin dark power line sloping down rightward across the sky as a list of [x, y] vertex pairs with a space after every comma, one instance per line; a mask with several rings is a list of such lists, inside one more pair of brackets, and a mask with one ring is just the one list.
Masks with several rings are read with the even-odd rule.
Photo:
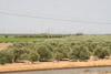
[[77, 21], [77, 20], [54, 19], [54, 18], [44, 18], [44, 17], [36, 17], [36, 15], [27, 15], [27, 14], [18, 14], [18, 13], [9, 13], [9, 12], [0, 12], [0, 13], [1, 14], [9, 14], [9, 15], [27, 17], [27, 18], [48, 19], [48, 20], [56, 20], [56, 21], [68, 21], [68, 22], [79, 22], [79, 23], [111, 24], [111, 23], [107, 23], [107, 22], [89, 22], [89, 21]]

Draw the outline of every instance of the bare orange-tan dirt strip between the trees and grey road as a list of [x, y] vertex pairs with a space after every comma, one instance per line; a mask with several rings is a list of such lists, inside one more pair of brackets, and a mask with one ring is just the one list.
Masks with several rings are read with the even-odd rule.
[[14, 72], [14, 71], [41, 71], [41, 70], [54, 70], [54, 68], [79, 68], [79, 67], [91, 67], [91, 66], [110, 66], [110, 60], [99, 60], [91, 62], [41, 62], [39, 64], [28, 63], [13, 63], [0, 65], [0, 72]]

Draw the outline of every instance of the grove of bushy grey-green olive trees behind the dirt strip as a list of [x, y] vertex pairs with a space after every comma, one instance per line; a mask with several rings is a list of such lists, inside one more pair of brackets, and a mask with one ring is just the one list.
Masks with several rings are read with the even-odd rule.
[[111, 35], [73, 35], [61, 39], [14, 42], [0, 51], [0, 64], [21, 61], [87, 61], [111, 55]]

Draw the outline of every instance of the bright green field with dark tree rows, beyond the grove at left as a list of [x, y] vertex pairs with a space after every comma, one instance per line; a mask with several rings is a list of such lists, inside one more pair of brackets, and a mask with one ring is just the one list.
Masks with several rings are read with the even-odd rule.
[[0, 43], [2, 42], [29, 42], [44, 39], [57, 39], [68, 36], [69, 34], [0, 34]]

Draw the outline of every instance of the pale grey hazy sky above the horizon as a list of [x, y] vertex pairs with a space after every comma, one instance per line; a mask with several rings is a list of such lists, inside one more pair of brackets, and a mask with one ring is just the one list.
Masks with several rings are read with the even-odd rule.
[[111, 0], [0, 0], [0, 33], [85, 33], [111, 34]]

